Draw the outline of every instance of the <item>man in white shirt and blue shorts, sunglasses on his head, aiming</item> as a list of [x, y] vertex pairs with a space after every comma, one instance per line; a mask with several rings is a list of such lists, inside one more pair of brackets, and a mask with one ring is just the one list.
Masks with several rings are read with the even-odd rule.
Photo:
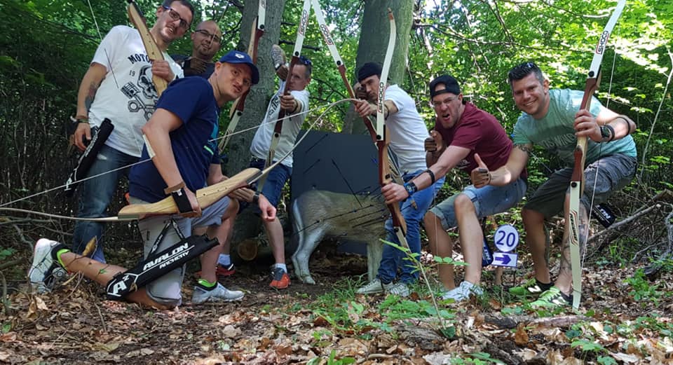
[[[276, 147], [276, 152], [271, 163], [283, 158], [292, 150], [294, 141], [297, 140], [301, 125], [306, 119], [306, 111], [308, 111], [308, 97], [309, 93], [306, 86], [311, 82], [311, 71], [313, 64], [308, 58], [299, 57], [299, 63], [292, 68], [292, 74], [289, 74], [287, 66], [284, 64], [284, 55], [280, 47], [273, 46], [271, 55], [274, 64], [277, 64], [276, 74], [280, 78], [278, 85], [278, 92], [271, 97], [266, 108], [266, 114], [261, 125], [257, 128], [254, 134], [252, 144], [250, 145], [250, 153], [252, 160], [250, 160], [250, 167], [263, 169], [266, 164], [268, 151], [271, 147], [271, 136], [273, 129], [276, 126], [280, 109], [285, 111], [285, 119], [283, 120], [283, 129], [280, 132], [280, 140]], [[287, 76], [287, 80], [285, 79]], [[285, 90], [285, 83], [289, 83], [288, 92], [283, 94]], [[284, 160], [274, 167], [268, 173], [266, 181], [262, 183], [261, 191], [252, 195], [253, 201], [257, 200], [259, 193], [266, 196], [274, 207], [278, 207], [280, 202], [280, 194], [283, 192], [283, 186], [292, 175], [292, 153], [285, 157]], [[259, 189], [259, 187], [256, 187]], [[271, 267], [271, 284], [269, 286], [276, 289], [285, 289], [290, 286], [290, 276], [287, 274], [287, 266], [285, 266], [285, 238], [283, 237], [283, 225], [278, 220], [263, 221], [266, 237], [271, 245], [273, 252], [273, 259], [276, 263]], [[225, 252], [225, 254], [229, 254]], [[220, 261], [222, 263], [222, 261]]]

